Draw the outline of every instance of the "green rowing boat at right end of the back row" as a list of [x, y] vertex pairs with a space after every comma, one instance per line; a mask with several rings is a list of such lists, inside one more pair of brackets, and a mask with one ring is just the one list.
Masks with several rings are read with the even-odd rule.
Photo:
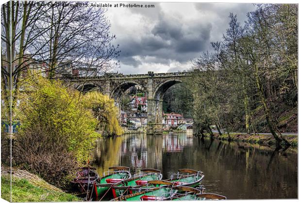
[[200, 186], [204, 174], [201, 171], [193, 169], [179, 169], [176, 174], [172, 174], [170, 179], [166, 180], [172, 182], [174, 186]]

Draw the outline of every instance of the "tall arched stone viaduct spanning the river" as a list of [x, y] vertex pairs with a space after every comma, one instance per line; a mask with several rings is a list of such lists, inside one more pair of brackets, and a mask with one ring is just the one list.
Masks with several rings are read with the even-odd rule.
[[[197, 71], [197, 70], [195, 70]], [[107, 73], [101, 77], [75, 77], [70, 80], [73, 87], [80, 91], [89, 91], [93, 88], [109, 95], [119, 103], [123, 93], [134, 85], [139, 85], [148, 97], [148, 134], [162, 133], [162, 101], [163, 95], [172, 85], [182, 83], [183, 77], [192, 72], [153, 73], [123, 75]]]

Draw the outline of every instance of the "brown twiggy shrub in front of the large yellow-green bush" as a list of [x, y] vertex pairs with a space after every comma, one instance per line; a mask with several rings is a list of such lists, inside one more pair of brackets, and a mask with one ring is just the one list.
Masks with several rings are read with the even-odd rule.
[[74, 152], [68, 151], [67, 140], [60, 139], [57, 134], [47, 126], [24, 129], [16, 135], [13, 160], [50, 184], [66, 188], [79, 164]]

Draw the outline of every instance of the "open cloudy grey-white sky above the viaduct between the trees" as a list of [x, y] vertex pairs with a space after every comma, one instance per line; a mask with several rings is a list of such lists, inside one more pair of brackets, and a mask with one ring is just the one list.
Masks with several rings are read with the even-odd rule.
[[109, 8], [106, 14], [111, 33], [117, 36], [114, 43], [121, 50], [120, 69], [116, 71], [124, 74], [189, 69], [192, 58], [210, 50], [210, 42], [222, 39], [230, 12], [243, 23], [246, 14], [255, 10], [250, 3], [142, 4], [155, 7]]

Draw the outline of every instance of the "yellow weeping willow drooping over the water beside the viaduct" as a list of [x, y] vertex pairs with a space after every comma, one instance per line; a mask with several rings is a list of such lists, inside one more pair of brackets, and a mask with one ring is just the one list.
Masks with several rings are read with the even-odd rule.
[[97, 118], [97, 130], [109, 135], [122, 135], [123, 130], [118, 123], [118, 108], [114, 100], [100, 92], [89, 92], [84, 95], [88, 108], [92, 109]]

